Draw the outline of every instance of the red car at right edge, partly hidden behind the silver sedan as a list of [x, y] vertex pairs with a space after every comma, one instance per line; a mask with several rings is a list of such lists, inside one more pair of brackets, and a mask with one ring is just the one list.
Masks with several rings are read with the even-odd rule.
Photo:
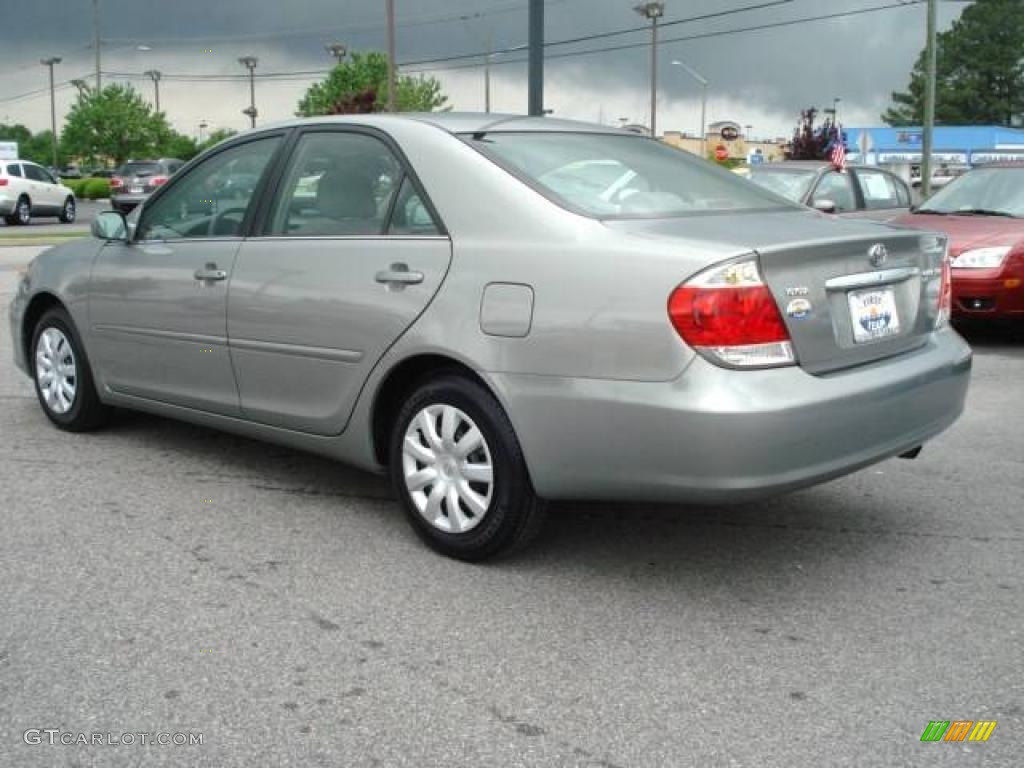
[[1024, 317], [1024, 166], [976, 168], [891, 223], [949, 237], [953, 316]]

